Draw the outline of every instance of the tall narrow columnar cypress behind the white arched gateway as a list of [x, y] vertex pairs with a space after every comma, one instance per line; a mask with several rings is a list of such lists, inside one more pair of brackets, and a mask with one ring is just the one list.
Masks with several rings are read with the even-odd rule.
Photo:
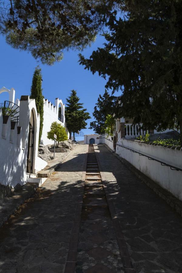
[[35, 71], [33, 74], [30, 99], [35, 99], [37, 113], [39, 113], [39, 116], [40, 116], [40, 129], [39, 129], [39, 143], [40, 143], [41, 136], [42, 136], [42, 128], [43, 128], [44, 97], [42, 95], [42, 74], [41, 74], [41, 68], [39, 68], [39, 66], [35, 68]]

